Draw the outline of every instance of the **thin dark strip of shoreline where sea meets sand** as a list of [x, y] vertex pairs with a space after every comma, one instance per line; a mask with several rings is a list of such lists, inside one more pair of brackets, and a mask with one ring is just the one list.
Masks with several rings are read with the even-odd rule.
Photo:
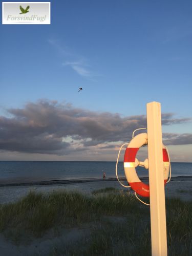
[[[120, 181], [126, 181], [126, 178], [119, 177]], [[148, 181], [148, 177], [140, 177], [141, 181]], [[192, 176], [173, 176], [171, 181], [189, 179], [192, 181]], [[62, 184], [75, 184], [87, 182], [101, 182], [101, 181], [117, 181], [117, 178], [84, 178], [84, 179], [68, 179], [68, 180], [47, 180], [47, 181], [31, 181], [31, 182], [13, 182], [13, 183], [0, 183], [0, 187], [12, 186], [42, 186], [42, 185], [62, 185]]]

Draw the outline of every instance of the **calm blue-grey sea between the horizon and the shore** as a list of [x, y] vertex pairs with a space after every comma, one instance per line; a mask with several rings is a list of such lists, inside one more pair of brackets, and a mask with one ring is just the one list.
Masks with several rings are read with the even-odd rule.
[[[98, 179], [103, 171], [106, 178], [114, 178], [116, 162], [70, 162], [70, 161], [0, 161], [0, 184]], [[192, 176], [192, 163], [172, 163], [172, 176]], [[148, 170], [137, 167], [138, 176], [148, 176]], [[118, 164], [118, 175], [124, 177], [123, 162]]]

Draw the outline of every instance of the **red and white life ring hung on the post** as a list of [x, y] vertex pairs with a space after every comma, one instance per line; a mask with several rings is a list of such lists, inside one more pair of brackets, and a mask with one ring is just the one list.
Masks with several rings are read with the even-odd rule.
[[[136, 159], [136, 154], [141, 146], [146, 144], [147, 142], [147, 133], [141, 133], [135, 136], [129, 145], [126, 148], [124, 154], [124, 172], [127, 181], [130, 186], [136, 193], [142, 197], [150, 196], [150, 186], [143, 183], [139, 177], [137, 176], [135, 167], [138, 165], [138, 160]], [[163, 149], [163, 176], [164, 176], [164, 184], [166, 184], [168, 180], [169, 174], [169, 159], [168, 154], [166, 152], [166, 148], [162, 145]]]

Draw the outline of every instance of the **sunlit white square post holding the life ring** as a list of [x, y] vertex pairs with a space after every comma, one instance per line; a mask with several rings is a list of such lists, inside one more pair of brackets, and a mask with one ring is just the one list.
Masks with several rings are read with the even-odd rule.
[[167, 237], [162, 156], [161, 104], [155, 101], [147, 103], [146, 112], [152, 255], [166, 256]]

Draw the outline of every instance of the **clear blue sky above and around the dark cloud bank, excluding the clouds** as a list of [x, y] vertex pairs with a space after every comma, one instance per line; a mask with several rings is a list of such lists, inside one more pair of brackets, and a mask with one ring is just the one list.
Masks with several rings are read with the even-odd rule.
[[[159, 101], [162, 113], [173, 113], [163, 132], [177, 134], [180, 140], [178, 145], [169, 141], [170, 154], [174, 161], [192, 161], [188, 153], [192, 149], [191, 9], [191, 1], [55, 0], [51, 25], [1, 25], [0, 115], [18, 121], [19, 116], [7, 110], [25, 110], [26, 104], [41, 108], [44, 104], [38, 102], [44, 99], [57, 101], [50, 103], [57, 110], [71, 104], [79, 112], [90, 111], [93, 119], [105, 112], [126, 118], [145, 115], [146, 103]], [[34, 121], [29, 116], [27, 120]], [[182, 134], [187, 134], [187, 143], [178, 137]], [[116, 147], [102, 152], [99, 146], [109, 146], [112, 138], [105, 142], [97, 138], [97, 148], [89, 148], [98, 151], [94, 158], [83, 153], [86, 143], [79, 141], [95, 137], [74, 136], [80, 136], [78, 131], [59, 138], [73, 140], [76, 147], [81, 143], [81, 152], [25, 153], [19, 146], [17, 151], [16, 144], [11, 148], [2, 142], [0, 160], [99, 160], [100, 154], [102, 160], [114, 159]], [[182, 159], [180, 151], [186, 153]]]

